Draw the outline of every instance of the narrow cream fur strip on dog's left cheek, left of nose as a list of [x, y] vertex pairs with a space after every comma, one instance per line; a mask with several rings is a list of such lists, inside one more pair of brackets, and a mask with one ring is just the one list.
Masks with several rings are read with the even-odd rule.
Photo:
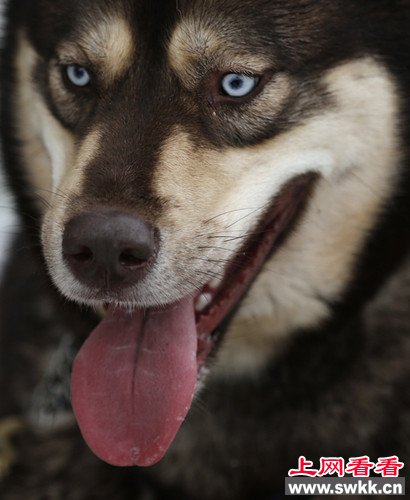
[[84, 167], [96, 154], [100, 134], [93, 130], [80, 141], [51, 114], [33, 81], [38, 55], [23, 33], [18, 40], [16, 132], [25, 177], [42, 213], [43, 251], [54, 282], [62, 286], [69, 276], [61, 256], [62, 228], [73, 209], [72, 199], [81, 192]]

